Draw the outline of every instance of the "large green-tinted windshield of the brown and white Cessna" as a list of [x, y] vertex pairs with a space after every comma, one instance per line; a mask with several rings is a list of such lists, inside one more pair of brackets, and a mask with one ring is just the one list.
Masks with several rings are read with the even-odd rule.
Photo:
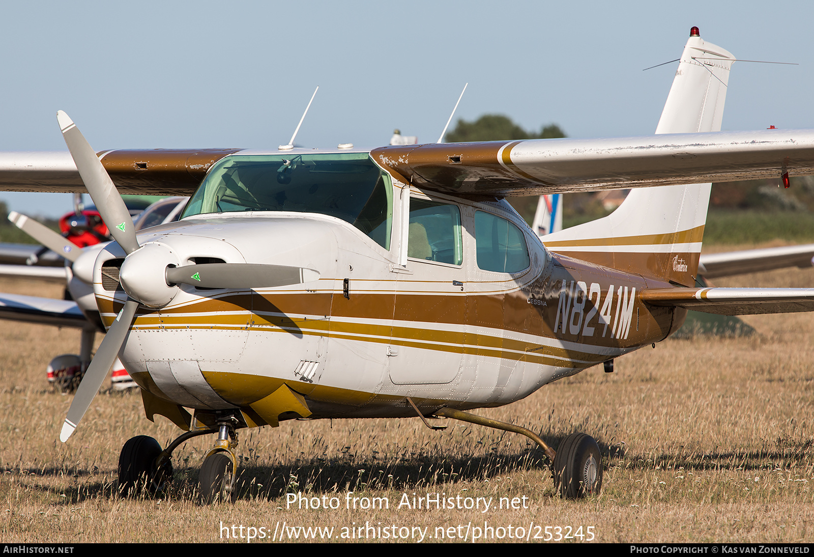
[[287, 211], [341, 218], [390, 249], [392, 185], [367, 153], [227, 156], [186, 205], [204, 213]]

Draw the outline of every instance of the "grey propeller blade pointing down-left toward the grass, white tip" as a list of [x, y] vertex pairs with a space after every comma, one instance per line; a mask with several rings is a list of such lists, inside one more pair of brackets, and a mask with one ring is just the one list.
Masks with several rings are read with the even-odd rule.
[[85, 371], [85, 376], [82, 378], [79, 388], [77, 388], [77, 394], [74, 395], [71, 407], [68, 408], [68, 417], [65, 418], [65, 423], [62, 424], [59, 441], [63, 443], [68, 441], [68, 437], [77, 428], [79, 420], [85, 415], [90, 403], [94, 401], [99, 387], [102, 386], [104, 378], [107, 377], [107, 371], [110, 371], [116, 357], [119, 357], [122, 344], [125, 344], [125, 337], [130, 331], [130, 326], [133, 325], [136, 309], [138, 309], [138, 302], [136, 300], [127, 300], [125, 307], [121, 309], [116, 317], [116, 321], [107, 330], [107, 335], [105, 335], [102, 344], [99, 346], [94, 359], [90, 362], [88, 371]]

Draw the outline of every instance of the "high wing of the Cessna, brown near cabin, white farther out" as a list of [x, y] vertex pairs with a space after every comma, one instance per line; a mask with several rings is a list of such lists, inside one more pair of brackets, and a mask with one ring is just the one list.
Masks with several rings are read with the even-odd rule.
[[[122, 193], [191, 195], [240, 149], [101, 153]], [[814, 174], [814, 130], [527, 139], [378, 147], [371, 156], [407, 183], [462, 195], [542, 195]], [[84, 191], [68, 153], [0, 153], [0, 190]]]

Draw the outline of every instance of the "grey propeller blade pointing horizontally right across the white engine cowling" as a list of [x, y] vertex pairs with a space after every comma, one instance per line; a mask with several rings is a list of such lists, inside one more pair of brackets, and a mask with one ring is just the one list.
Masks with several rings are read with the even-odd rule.
[[199, 263], [167, 268], [168, 284], [190, 284], [199, 288], [269, 288], [309, 283], [319, 272], [288, 265], [254, 263]]

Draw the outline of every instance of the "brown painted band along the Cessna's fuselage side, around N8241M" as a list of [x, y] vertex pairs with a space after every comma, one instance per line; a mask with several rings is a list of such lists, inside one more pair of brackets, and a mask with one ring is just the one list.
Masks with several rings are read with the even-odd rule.
[[[608, 254], [599, 254], [607, 256]], [[641, 255], [641, 257], [646, 257]], [[650, 257], [653, 257], [652, 254]], [[612, 261], [611, 261], [612, 262]], [[382, 292], [379, 294], [351, 293], [350, 299], [344, 298], [341, 293], [334, 296], [327, 294], [313, 293], [285, 293], [274, 295], [265, 293], [263, 295], [253, 294], [252, 302], [247, 303], [249, 296], [243, 293], [233, 297], [225, 296], [218, 300], [202, 299], [199, 303], [183, 305], [170, 310], [148, 311], [142, 310], [136, 320], [136, 327], [260, 327], [274, 326], [282, 329], [300, 329], [308, 334], [355, 336], [358, 340], [363, 335], [380, 337], [374, 342], [387, 341], [392, 337], [396, 344], [400, 342], [421, 342], [431, 343], [433, 339], [438, 342], [448, 344], [484, 344], [490, 348], [498, 349], [501, 346], [508, 347], [512, 344], [512, 349], [526, 351], [536, 349], [535, 343], [528, 340], [511, 340], [516, 334], [529, 334], [533, 336], [557, 338], [575, 343], [591, 344], [608, 348], [630, 348], [638, 344], [644, 344], [653, 340], [661, 340], [669, 330], [672, 317], [667, 312], [660, 312], [653, 315], [650, 312], [641, 312], [641, 302], [637, 305], [637, 326], [631, 327], [627, 339], [612, 339], [605, 331], [603, 324], [599, 324], [597, 315], [592, 316], [593, 321], [589, 327], [602, 327], [602, 331], [589, 335], [584, 331], [584, 326], [576, 327], [580, 316], [574, 314], [569, 307], [569, 316], [573, 315], [573, 320], [565, 332], [562, 327], [554, 331], [558, 325], [558, 301], [563, 292], [566, 296], [573, 296], [574, 285], [580, 282], [585, 283], [585, 288], [590, 289], [593, 283], [601, 289], [600, 300], [602, 303], [608, 296], [608, 288], [614, 285], [628, 287], [632, 293], [632, 288], [636, 289], [638, 297], [646, 287], [669, 287], [668, 284], [655, 281], [649, 285], [637, 274], [627, 274], [619, 270], [613, 270], [592, 263], [571, 259], [569, 257], [554, 256], [552, 272], [546, 274], [544, 278], [538, 278], [532, 283], [528, 283], [523, 290], [514, 292], [502, 292], [500, 294], [469, 296], [444, 296], [435, 294], [405, 294], [396, 295], [395, 292]], [[564, 288], [563, 281], [566, 287]], [[571, 290], [569, 290], [571, 289]], [[616, 309], [616, 299], [619, 296], [614, 292], [612, 300], [614, 304], [611, 310]], [[579, 296], [577, 299], [581, 300]], [[235, 303], [230, 303], [235, 302]], [[289, 315], [313, 315], [313, 303], [317, 302], [319, 314], [317, 321], [313, 318], [291, 318]], [[330, 312], [326, 311], [327, 304], [331, 303]], [[108, 314], [106, 322], [112, 321], [112, 314], [120, 308], [120, 304], [113, 304], [110, 300], [100, 300], [100, 308], [103, 313]], [[591, 300], [591, 304], [597, 304], [596, 296]], [[116, 307], [118, 306], [118, 307]], [[260, 308], [279, 316], [261, 315]], [[586, 302], [582, 318], [587, 318], [592, 305]], [[220, 315], [200, 316], [196, 311], [217, 314], [220, 312], [231, 312]], [[186, 315], [185, 315], [186, 314]], [[330, 322], [324, 321], [324, 315], [330, 314]], [[336, 318], [342, 318], [341, 320]], [[279, 319], [279, 321], [278, 321]], [[372, 320], [379, 322], [371, 322]], [[395, 328], [391, 328], [389, 323], [395, 319]], [[409, 327], [407, 323], [414, 322], [414, 327]], [[460, 327], [459, 331], [440, 331], [431, 327], [432, 322], [444, 323]], [[326, 323], [330, 323], [327, 324]], [[573, 324], [574, 327], [570, 327]], [[467, 328], [471, 327], [471, 328]], [[327, 327], [327, 330], [326, 330]], [[494, 332], [488, 334], [479, 333], [477, 327], [492, 329]], [[575, 334], [571, 333], [574, 329]], [[579, 328], [579, 331], [576, 329]], [[497, 331], [505, 331], [495, 334]], [[606, 332], [602, 336], [602, 332]], [[516, 343], [516, 344], [515, 344]], [[540, 344], [540, 343], [536, 343]], [[444, 348], [449, 350], [449, 348]], [[578, 349], [577, 349], [578, 350]]]

